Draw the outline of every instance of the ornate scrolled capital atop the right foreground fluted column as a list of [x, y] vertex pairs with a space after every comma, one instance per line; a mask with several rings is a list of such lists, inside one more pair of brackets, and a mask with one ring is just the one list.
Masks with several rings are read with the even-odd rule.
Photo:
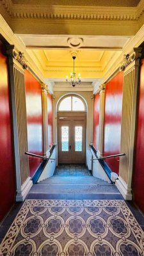
[[124, 71], [125, 68], [130, 65], [133, 61], [141, 58], [141, 48], [134, 49], [136, 51], [132, 52], [132, 54], [124, 54], [124, 62], [120, 65], [120, 71]]

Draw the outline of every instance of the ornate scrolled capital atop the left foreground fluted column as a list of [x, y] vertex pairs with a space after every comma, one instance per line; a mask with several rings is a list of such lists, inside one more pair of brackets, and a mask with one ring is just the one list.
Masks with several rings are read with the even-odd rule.
[[22, 65], [22, 68], [27, 69], [28, 64], [26, 63], [26, 60], [24, 58], [24, 52], [18, 52], [15, 49], [14, 45], [7, 45], [7, 50], [6, 50], [7, 56], [10, 56], [11, 58], [15, 59]]

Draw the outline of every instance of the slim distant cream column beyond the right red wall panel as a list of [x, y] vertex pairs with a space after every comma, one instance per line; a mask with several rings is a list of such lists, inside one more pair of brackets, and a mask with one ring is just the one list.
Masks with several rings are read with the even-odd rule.
[[104, 147], [104, 107], [105, 107], [106, 84], [99, 86], [100, 107], [99, 107], [99, 146], [98, 155], [102, 156]]

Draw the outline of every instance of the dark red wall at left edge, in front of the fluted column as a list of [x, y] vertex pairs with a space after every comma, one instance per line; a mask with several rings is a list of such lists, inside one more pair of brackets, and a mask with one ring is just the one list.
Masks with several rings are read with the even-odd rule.
[[0, 41], [0, 220], [15, 200], [15, 167], [13, 159], [12, 116], [8, 88], [8, 70]]

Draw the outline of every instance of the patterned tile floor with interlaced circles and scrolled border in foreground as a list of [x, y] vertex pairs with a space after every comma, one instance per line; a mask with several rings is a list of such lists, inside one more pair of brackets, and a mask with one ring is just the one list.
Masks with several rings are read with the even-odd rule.
[[142, 256], [144, 234], [124, 200], [26, 200], [3, 256]]

